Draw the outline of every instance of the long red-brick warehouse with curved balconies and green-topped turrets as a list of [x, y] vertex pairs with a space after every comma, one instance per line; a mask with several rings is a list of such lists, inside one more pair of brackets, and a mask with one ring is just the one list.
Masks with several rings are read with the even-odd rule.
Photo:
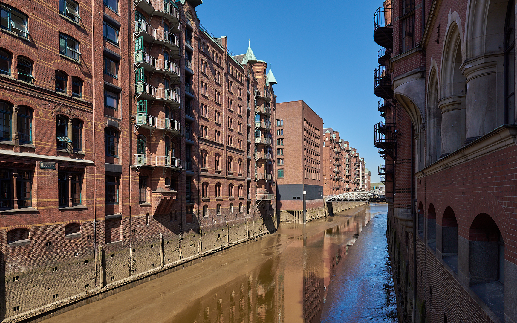
[[0, 320], [276, 230], [275, 77], [200, 4], [2, 2]]

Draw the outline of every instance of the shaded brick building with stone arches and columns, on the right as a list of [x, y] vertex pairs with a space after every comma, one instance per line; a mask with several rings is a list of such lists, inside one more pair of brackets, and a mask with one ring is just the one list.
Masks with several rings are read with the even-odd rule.
[[515, 2], [386, 0], [374, 93], [401, 322], [516, 322]]

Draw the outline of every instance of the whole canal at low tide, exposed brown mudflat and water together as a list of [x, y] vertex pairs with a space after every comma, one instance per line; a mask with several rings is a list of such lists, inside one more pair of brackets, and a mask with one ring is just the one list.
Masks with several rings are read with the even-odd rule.
[[281, 224], [277, 234], [45, 322], [396, 322], [386, 212], [372, 204]]

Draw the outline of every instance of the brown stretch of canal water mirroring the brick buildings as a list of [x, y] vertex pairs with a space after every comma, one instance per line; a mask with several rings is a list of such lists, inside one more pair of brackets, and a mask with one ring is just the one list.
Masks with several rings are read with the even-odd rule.
[[306, 226], [282, 224], [276, 236], [267, 238], [267, 245], [276, 247], [262, 246], [269, 260], [209, 291], [171, 322], [320, 322], [338, 264], [384, 209], [356, 208]]

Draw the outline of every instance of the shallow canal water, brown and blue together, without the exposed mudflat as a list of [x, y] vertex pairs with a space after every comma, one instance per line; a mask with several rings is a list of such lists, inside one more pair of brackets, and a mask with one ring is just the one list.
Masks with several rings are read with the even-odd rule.
[[[206, 293], [172, 322], [396, 322], [385, 239], [386, 216], [382, 216], [386, 209], [385, 204], [356, 208], [310, 222], [305, 228], [282, 224], [278, 234], [266, 238], [271, 240], [264, 251], [264, 255], [271, 256], [269, 260]], [[359, 262], [348, 263], [354, 254], [348, 255], [349, 248], [377, 214], [372, 224], [375, 231], [382, 231], [379, 234], [384, 239], [369, 237], [373, 241], [368, 245], [379, 249], [382, 256], [375, 251], [364, 252]], [[359, 270], [365, 274], [357, 275]], [[364, 295], [363, 291], [366, 298], [357, 297], [364, 284], [371, 286], [372, 295]]]

